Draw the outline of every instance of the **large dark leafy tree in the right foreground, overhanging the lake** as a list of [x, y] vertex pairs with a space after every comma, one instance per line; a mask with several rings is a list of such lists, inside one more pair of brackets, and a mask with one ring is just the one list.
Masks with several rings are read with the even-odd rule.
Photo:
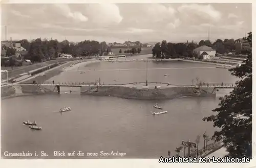
[[[251, 46], [251, 32], [247, 40]], [[229, 95], [221, 98], [219, 107], [212, 110], [217, 114], [204, 117], [203, 121], [214, 122], [216, 141], [223, 141], [230, 157], [251, 157], [252, 144], [252, 55], [248, 50], [245, 64], [229, 69], [240, 78]]]

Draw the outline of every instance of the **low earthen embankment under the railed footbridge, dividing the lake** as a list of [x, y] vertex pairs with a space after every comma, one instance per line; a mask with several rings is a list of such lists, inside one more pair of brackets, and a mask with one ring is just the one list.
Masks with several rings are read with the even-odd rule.
[[[9, 85], [1, 99], [23, 97], [27, 95], [56, 94], [54, 86]], [[117, 97], [134, 100], [171, 100], [184, 97], [212, 97], [216, 95], [214, 88], [200, 88], [201, 94], [195, 93], [194, 87], [169, 87], [160, 89], [139, 89], [129, 86], [82, 86], [79, 95]]]

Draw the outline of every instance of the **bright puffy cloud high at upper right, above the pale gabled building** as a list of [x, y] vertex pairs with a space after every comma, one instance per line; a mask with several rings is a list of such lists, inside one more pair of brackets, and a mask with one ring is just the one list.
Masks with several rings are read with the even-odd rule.
[[185, 13], [190, 18], [193, 17], [193, 15], [196, 15], [199, 18], [203, 17], [214, 21], [218, 21], [222, 16], [221, 12], [217, 11], [211, 5], [185, 4], [180, 6], [178, 11], [180, 13]]

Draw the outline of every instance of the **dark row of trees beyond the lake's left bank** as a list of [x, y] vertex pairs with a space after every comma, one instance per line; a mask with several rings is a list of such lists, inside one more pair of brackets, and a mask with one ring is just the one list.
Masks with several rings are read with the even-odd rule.
[[[84, 40], [77, 44], [70, 43], [68, 40], [59, 42], [58, 40], [47, 40], [37, 38], [29, 42], [27, 39], [15, 41], [20, 43], [28, 52], [24, 55], [24, 59], [34, 62], [56, 59], [59, 54], [71, 54], [77, 56], [93, 56], [103, 55], [108, 50], [108, 45], [105, 41], [99, 42], [95, 40]], [[6, 48], [6, 56], [15, 54], [15, 50]], [[110, 49], [109, 49], [110, 50]]]

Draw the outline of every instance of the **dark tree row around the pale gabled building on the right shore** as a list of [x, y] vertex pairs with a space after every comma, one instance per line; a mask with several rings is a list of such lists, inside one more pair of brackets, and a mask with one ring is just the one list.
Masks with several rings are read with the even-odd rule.
[[[162, 43], [158, 42], [155, 44], [152, 49], [152, 54], [155, 58], [191, 58], [195, 57], [193, 50], [202, 45], [212, 47], [212, 49], [216, 50], [216, 53], [219, 54], [229, 53], [236, 49], [234, 39], [217, 39], [214, 43], [210, 40], [201, 40], [198, 44], [194, 42], [172, 43], [163, 40]], [[243, 53], [246, 53], [246, 50], [242, 50], [242, 54]]]

